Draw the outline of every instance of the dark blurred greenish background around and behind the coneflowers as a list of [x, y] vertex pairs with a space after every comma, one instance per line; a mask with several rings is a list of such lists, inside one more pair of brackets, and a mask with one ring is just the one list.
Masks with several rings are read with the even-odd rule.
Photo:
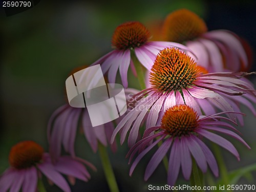
[[[66, 103], [68, 74], [110, 52], [112, 33], [118, 25], [130, 20], [146, 25], [180, 8], [201, 16], [209, 30], [227, 29], [246, 39], [253, 50], [252, 70], [256, 70], [255, 1], [41, 0], [34, 8], [12, 16], [6, 16], [2, 9], [0, 173], [9, 166], [11, 146], [19, 141], [34, 140], [48, 151], [47, 122], [53, 111]], [[250, 80], [256, 83], [255, 76]], [[223, 151], [228, 170], [256, 162], [255, 117], [246, 108], [243, 112], [247, 117], [240, 131], [252, 149], [232, 140], [241, 162]], [[98, 155], [79, 134], [76, 153], [93, 162], [98, 172], [90, 172], [92, 179], [88, 183], [77, 181], [72, 191], [108, 191]], [[119, 146], [116, 154], [110, 152], [120, 191], [146, 191], [148, 184], [165, 184], [162, 165], [148, 182], [143, 181], [146, 158], [129, 177], [126, 153], [125, 145]], [[58, 191], [55, 186], [46, 187], [47, 191]]]

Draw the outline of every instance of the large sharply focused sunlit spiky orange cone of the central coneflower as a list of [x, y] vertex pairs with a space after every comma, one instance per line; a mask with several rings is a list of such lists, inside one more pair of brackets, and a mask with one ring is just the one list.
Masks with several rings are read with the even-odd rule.
[[150, 73], [150, 83], [158, 91], [170, 92], [194, 85], [201, 68], [177, 48], [165, 48], [156, 57]]

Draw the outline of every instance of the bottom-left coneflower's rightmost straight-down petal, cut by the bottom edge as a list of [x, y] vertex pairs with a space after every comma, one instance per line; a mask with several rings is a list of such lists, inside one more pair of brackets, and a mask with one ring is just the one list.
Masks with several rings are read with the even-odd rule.
[[24, 182], [22, 186], [23, 191], [35, 192], [37, 186], [37, 170], [35, 167], [31, 167], [25, 170]]

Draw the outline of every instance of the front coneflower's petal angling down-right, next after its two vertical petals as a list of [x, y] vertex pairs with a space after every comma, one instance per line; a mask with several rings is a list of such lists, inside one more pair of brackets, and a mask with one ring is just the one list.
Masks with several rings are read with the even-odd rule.
[[186, 145], [189, 148], [191, 155], [195, 158], [197, 165], [200, 167], [203, 173], [207, 171], [207, 163], [202, 148], [195, 140], [195, 136], [190, 134], [185, 140]]

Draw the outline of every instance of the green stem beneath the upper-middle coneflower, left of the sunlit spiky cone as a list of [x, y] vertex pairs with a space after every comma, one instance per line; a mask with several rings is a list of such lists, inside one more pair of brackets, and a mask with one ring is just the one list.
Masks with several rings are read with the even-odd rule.
[[134, 49], [131, 50], [131, 58], [133, 60], [134, 67], [137, 72], [137, 78], [139, 80], [140, 88], [141, 88], [141, 90], [144, 90], [144, 89], [146, 89], [146, 84], [145, 84], [145, 80], [144, 80], [143, 67], [142, 67], [140, 61], [138, 60], [138, 58], [136, 57]]

